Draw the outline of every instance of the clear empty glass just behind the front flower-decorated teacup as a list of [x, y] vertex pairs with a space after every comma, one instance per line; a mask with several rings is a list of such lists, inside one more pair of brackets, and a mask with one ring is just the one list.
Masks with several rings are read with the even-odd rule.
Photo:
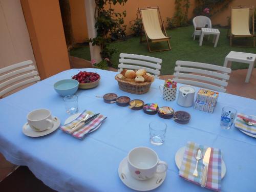
[[154, 145], [162, 145], [165, 139], [167, 125], [162, 121], [150, 122], [150, 142]]

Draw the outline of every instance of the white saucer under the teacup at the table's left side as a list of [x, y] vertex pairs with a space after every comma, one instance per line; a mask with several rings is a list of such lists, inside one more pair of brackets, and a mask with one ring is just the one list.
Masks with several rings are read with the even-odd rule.
[[22, 132], [25, 135], [29, 136], [29, 137], [41, 137], [41, 136], [45, 136], [45, 135], [48, 135], [48, 134], [54, 132], [56, 129], [58, 129], [59, 125], [60, 125], [59, 118], [53, 117], [53, 127], [52, 127], [52, 129], [37, 132], [37, 131], [34, 131], [33, 129], [31, 129], [31, 127], [29, 126], [28, 123], [25, 123], [23, 125]]

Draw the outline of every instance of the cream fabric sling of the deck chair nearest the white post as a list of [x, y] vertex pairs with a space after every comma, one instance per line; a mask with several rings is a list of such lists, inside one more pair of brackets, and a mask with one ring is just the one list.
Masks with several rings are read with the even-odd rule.
[[[150, 39], [166, 38], [161, 29], [159, 8], [139, 9], [144, 31]], [[159, 16], [158, 16], [159, 14]], [[162, 22], [162, 19], [161, 19]], [[163, 25], [163, 24], [162, 24]]]

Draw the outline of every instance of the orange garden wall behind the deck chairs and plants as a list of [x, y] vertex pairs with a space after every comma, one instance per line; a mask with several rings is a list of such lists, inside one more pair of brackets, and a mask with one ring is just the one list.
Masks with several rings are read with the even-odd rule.
[[[83, 42], [88, 38], [87, 35], [87, 24], [86, 24], [86, 16], [84, 13], [84, 0], [70, 0], [71, 4], [71, 16], [72, 16], [72, 25], [73, 32], [77, 42]], [[193, 10], [195, 8], [195, 0], [190, 0], [190, 8], [188, 17], [193, 17]], [[221, 13], [212, 17], [212, 24], [220, 24], [222, 26], [227, 25], [227, 17], [230, 16], [230, 7], [232, 6], [251, 6], [254, 5], [256, 7], [256, 0], [233, 0], [229, 7], [224, 9]], [[173, 17], [175, 13], [175, 0], [128, 0], [124, 6], [116, 5], [113, 6], [116, 12], [122, 12], [126, 10], [126, 17], [124, 18], [124, 24], [127, 25], [127, 34], [131, 34], [130, 24], [131, 20], [136, 18], [138, 8], [144, 7], [153, 7], [159, 6], [162, 19], [164, 24], [166, 25], [166, 17]]]

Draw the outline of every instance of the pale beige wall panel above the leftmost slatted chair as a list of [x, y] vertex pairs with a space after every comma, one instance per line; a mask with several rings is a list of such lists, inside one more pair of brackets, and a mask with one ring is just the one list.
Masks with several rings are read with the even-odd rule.
[[29, 33], [19, 0], [0, 0], [0, 68], [32, 60]]

